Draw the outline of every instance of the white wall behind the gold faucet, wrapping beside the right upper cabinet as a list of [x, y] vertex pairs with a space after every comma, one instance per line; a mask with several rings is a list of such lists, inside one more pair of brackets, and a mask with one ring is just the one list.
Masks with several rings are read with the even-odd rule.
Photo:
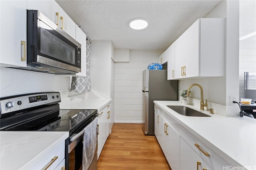
[[[187, 89], [190, 84], [198, 83], [203, 87], [204, 100], [208, 99], [208, 102], [213, 102], [224, 106], [230, 105], [230, 95], [238, 96], [238, 15], [239, 1], [222, 1], [205, 17], [226, 18], [225, 76], [216, 78], [180, 80], [179, 90]], [[190, 97], [200, 99], [199, 88], [193, 87], [191, 92]]]

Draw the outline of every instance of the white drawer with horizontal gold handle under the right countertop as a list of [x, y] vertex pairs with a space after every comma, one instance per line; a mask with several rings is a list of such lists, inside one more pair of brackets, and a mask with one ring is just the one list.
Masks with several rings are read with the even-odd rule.
[[187, 131], [186, 135], [182, 136], [182, 138], [212, 169], [218, 170], [223, 169], [224, 166], [230, 166], [228, 162], [190, 132]]

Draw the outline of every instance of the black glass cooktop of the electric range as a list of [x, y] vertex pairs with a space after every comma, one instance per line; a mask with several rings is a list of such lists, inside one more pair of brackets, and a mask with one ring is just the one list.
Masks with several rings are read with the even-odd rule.
[[16, 119], [16, 124], [10, 119], [1, 120], [1, 126], [6, 125], [1, 131], [69, 131], [72, 134], [96, 113], [97, 110], [58, 109], [32, 119]]

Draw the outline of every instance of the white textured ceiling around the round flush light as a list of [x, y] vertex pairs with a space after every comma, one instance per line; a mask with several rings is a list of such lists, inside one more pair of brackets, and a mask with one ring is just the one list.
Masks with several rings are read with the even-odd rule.
[[[167, 49], [218, 0], [56, 0], [92, 40], [110, 40], [116, 49]], [[132, 18], [146, 18], [148, 27], [133, 30]]]

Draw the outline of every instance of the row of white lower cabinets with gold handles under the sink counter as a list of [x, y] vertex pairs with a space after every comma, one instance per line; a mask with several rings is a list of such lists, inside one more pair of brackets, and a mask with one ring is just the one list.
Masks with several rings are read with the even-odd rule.
[[172, 170], [220, 170], [231, 166], [155, 104], [155, 136]]

